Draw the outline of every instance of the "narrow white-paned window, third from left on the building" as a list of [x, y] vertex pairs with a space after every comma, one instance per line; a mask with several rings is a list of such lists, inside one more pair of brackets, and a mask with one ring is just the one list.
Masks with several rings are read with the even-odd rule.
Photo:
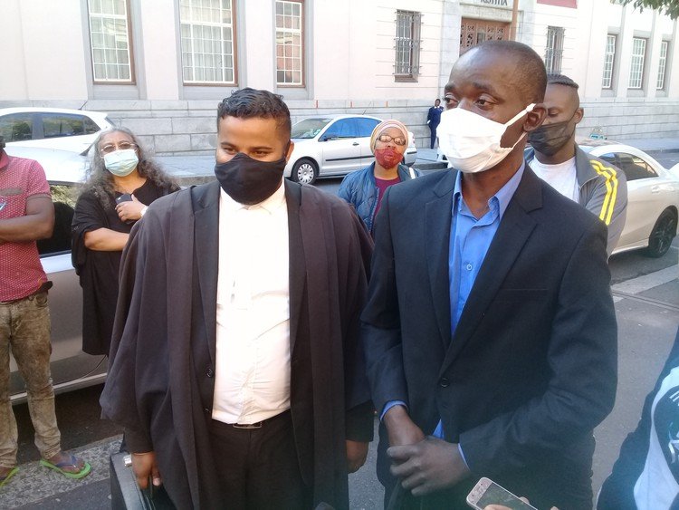
[[301, 2], [276, 1], [276, 83], [304, 84]]

